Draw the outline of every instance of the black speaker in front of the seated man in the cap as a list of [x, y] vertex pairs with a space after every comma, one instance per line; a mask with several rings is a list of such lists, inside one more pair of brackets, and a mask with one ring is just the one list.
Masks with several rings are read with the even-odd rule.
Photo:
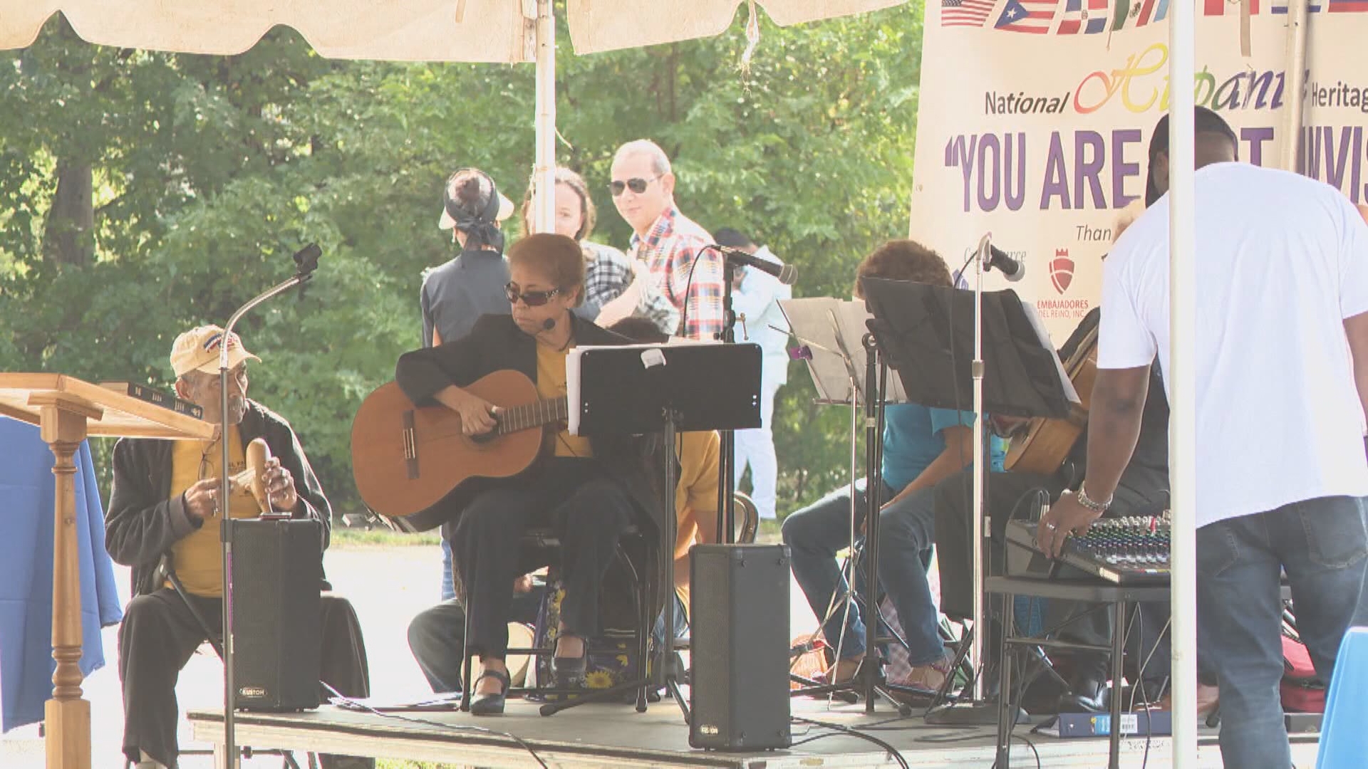
[[248, 519], [233, 527], [238, 710], [317, 707], [321, 524]]

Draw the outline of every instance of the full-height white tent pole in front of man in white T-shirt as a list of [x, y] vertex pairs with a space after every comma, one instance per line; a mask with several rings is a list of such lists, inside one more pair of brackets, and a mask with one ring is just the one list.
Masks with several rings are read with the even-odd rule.
[[[1172, 101], [1168, 122], [1168, 343], [1170, 383], [1168, 482], [1172, 505], [1172, 680], [1174, 766], [1197, 765], [1197, 406], [1193, 364], [1197, 290], [1193, 256], [1197, 253], [1194, 94], [1196, 3], [1172, 0], [1168, 27], [1168, 82]], [[1120, 632], [1116, 628], [1115, 632]]]

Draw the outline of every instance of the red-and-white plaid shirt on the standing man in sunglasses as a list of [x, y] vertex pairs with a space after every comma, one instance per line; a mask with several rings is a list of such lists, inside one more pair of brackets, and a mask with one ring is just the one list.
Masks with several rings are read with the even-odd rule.
[[722, 256], [703, 250], [711, 244], [713, 235], [673, 205], [644, 238], [632, 235], [632, 256], [646, 263], [659, 291], [685, 316], [681, 335], [689, 339], [714, 339], [722, 333]]

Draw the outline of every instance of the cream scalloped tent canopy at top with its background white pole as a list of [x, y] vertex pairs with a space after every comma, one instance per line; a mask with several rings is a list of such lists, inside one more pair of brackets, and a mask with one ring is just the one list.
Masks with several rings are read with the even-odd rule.
[[[847, 16], [906, 0], [568, 0], [577, 53], [676, 42], [722, 33], [746, 3], [780, 26]], [[234, 55], [271, 27], [297, 30], [321, 56], [386, 62], [536, 63], [536, 168], [555, 171], [555, 23], [551, 0], [0, 0], [0, 49], [25, 48], [62, 12], [88, 42], [178, 53]], [[550, 229], [551, 196], [534, 226]]]

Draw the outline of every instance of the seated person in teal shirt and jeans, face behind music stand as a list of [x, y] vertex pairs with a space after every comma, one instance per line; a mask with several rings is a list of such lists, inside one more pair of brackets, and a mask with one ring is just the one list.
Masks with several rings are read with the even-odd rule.
[[[949, 270], [936, 252], [910, 239], [889, 241], [869, 255], [856, 271], [859, 278], [889, 278], [936, 286], [952, 286]], [[926, 577], [934, 546], [936, 483], [973, 462], [973, 412], [933, 409], [917, 404], [884, 409], [882, 488], [878, 519], [878, 580], [897, 610], [908, 646], [912, 673], [900, 681], [934, 691], [951, 669], [938, 634], [936, 602]], [[1004, 452], [990, 438], [986, 456], [992, 469], [1003, 469]], [[856, 483], [858, 509], [865, 508], [863, 480]], [[822, 621], [826, 643], [840, 650], [832, 679], [855, 675], [865, 654], [865, 624], [855, 603], [843, 603], [848, 586], [836, 564], [836, 553], [850, 546], [850, 487], [836, 490], [784, 520], [784, 543], [792, 553], [793, 577]], [[837, 588], [843, 601], [834, 601]], [[832, 609], [828, 612], [828, 609]]]

